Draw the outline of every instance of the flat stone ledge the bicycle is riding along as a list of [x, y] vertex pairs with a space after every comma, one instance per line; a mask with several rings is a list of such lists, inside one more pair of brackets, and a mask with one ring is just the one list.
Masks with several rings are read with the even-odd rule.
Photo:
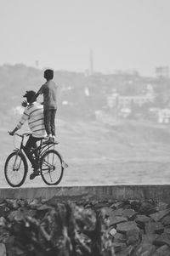
[[32, 188], [1, 188], [0, 198], [49, 199], [53, 196], [64, 198], [91, 197], [114, 200], [148, 200], [170, 202], [170, 185], [104, 185], [104, 186], [62, 186]]

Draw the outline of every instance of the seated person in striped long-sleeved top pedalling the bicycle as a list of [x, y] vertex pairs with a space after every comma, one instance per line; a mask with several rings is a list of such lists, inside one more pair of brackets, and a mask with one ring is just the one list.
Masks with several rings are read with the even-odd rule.
[[[44, 126], [44, 116], [43, 116], [43, 105], [37, 103], [35, 98], [36, 92], [34, 91], [26, 91], [26, 94], [23, 97], [26, 97], [27, 106], [26, 109], [20, 119], [20, 122], [14, 128], [13, 131], [9, 132], [10, 135], [14, 135], [14, 133], [22, 127], [22, 125], [28, 121], [29, 128], [31, 129], [31, 135], [26, 142], [25, 151], [26, 156], [30, 160], [33, 168], [33, 173], [30, 175], [30, 179], [34, 179], [37, 175], [39, 175], [39, 163], [33, 159], [31, 149], [37, 148], [37, 141], [44, 138], [46, 136], [46, 129]], [[32, 99], [35, 99], [33, 102]]]

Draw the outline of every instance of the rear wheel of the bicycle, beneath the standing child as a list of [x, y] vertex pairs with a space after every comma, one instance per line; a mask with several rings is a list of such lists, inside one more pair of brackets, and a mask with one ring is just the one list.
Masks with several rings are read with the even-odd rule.
[[62, 159], [54, 150], [46, 151], [42, 155], [41, 175], [47, 185], [57, 185], [63, 177]]

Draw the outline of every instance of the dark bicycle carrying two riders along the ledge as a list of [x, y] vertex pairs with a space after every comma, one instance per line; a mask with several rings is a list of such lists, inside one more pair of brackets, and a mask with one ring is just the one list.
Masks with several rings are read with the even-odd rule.
[[[28, 173], [28, 163], [26, 161], [26, 151], [23, 145], [24, 139], [30, 134], [14, 134], [21, 138], [20, 147], [15, 147], [14, 151], [7, 157], [4, 174], [8, 185], [12, 187], [20, 187], [26, 180]], [[36, 161], [40, 163], [40, 174], [42, 180], [47, 185], [58, 185], [64, 173], [62, 166], [62, 157], [55, 150], [54, 146], [58, 143], [45, 144], [43, 138], [40, 140], [40, 145], [37, 149], [32, 149], [32, 156], [36, 157]], [[37, 151], [38, 154], [35, 154]], [[38, 155], [38, 157], [36, 156]], [[15, 180], [18, 181], [15, 181]]]

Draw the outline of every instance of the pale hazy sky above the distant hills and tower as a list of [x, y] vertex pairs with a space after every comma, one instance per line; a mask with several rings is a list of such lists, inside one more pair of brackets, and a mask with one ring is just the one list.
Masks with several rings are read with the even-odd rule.
[[0, 65], [85, 71], [170, 66], [170, 0], [0, 0]]

